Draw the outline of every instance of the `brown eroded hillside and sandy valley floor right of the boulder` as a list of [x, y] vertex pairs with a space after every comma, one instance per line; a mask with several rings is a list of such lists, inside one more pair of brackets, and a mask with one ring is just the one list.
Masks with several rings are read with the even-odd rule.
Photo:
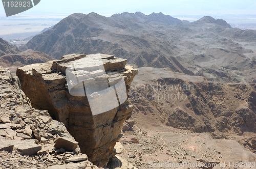
[[[165, 90], [163, 82], [173, 86]], [[194, 85], [190, 94], [178, 87], [187, 82]], [[144, 67], [139, 68], [133, 87], [134, 111], [129, 120], [133, 125], [123, 127], [123, 150], [118, 154], [122, 158], [138, 168], [150, 168], [152, 162], [155, 166], [219, 162], [214, 168], [255, 168], [229, 165], [256, 159], [255, 100], [250, 99], [250, 95], [255, 99], [254, 84], [212, 83], [202, 76]], [[187, 97], [182, 99], [182, 93]]]

